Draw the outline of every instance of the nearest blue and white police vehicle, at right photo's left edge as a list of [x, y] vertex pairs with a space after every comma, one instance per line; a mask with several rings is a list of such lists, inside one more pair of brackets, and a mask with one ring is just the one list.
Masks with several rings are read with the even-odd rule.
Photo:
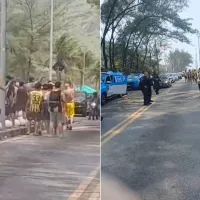
[[106, 104], [109, 98], [127, 93], [127, 77], [121, 72], [101, 73], [101, 104]]

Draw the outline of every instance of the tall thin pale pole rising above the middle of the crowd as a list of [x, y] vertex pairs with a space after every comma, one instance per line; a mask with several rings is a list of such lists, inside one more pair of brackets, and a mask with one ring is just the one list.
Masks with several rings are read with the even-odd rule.
[[50, 28], [50, 60], [49, 60], [49, 80], [52, 80], [52, 66], [53, 66], [53, 0], [51, 0], [51, 28]]

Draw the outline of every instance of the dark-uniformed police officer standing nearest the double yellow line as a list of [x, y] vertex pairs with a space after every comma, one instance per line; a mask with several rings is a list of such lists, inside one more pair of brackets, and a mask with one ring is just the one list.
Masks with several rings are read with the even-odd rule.
[[151, 80], [149, 78], [148, 72], [145, 72], [144, 76], [141, 78], [140, 88], [144, 96], [144, 106], [150, 105], [149, 91], [151, 89]]

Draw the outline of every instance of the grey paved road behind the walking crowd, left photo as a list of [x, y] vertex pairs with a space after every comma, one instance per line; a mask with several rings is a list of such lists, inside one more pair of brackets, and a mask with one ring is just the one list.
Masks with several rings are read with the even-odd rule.
[[22, 136], [1, 141], [0, 152], [1, 200], [66, 200], [81, 197], [83, 190], [89, 196], [88, 186], [94, 181], [93, 189], [98, 189], [99, 121], [77, 118], [74, 130], [64, 138]]

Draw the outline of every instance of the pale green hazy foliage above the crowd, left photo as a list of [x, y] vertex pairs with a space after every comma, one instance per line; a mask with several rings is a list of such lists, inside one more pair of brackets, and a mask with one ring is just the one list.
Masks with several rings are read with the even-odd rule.
[[[8, 5], [8, 56], [7, 73], [25, 80], [30, 76], [45, 76], [48, 79], [49, 51], [50, 51], [50, 5], [44, 0], [10, 0]], [[76, 5], [77, 4], [77, 5]], [[74, 6], [76, 5], [76, 6]], [[75, 12], [74, 8], [79, 12]], [[82, 10], [80, 10], [82, 8]], [[83, 30], [81, 37], [77, 35], [77, 28], [89, 26], [93, 19], [85, 21], [87, 13], [96, 10], [90, 8], [87, 2], [54, 1], [54, 35], [53, 35], [53, 64], [57, 61], [66, 66], [62, 79], [73, 78], [80, 84], [80, 74], [93, 74], [94, 63], [98, 62], [98, 55], [87, 43], [88, 30]], [[98, 19], [98, 18], [97, 18]], [[76, 24], [76, 27], [74, 26]], [[94, 31], [98, 26], [92, 25]], [[95, 39], [94, 39], [95, 38]], [[91, 41], [98, 43], [96, 36]], [[84, 66], [85, 52], [85, 69]], [[91, 52], [94, 52], [91, 53]], [[98, 52], [98, 51], [97, 51]], [[90, 70], [91, 69], [91, 70]], [[72, 77], [73, 76], [73, 77]], [[56, 73], [54, 73], [56, 78]], [[84, 77], [83, 77], [84, 78]], [[82, 82], [84, 82], [82, 80]], [[95, 85], [86, 79], [87, 84]]]

